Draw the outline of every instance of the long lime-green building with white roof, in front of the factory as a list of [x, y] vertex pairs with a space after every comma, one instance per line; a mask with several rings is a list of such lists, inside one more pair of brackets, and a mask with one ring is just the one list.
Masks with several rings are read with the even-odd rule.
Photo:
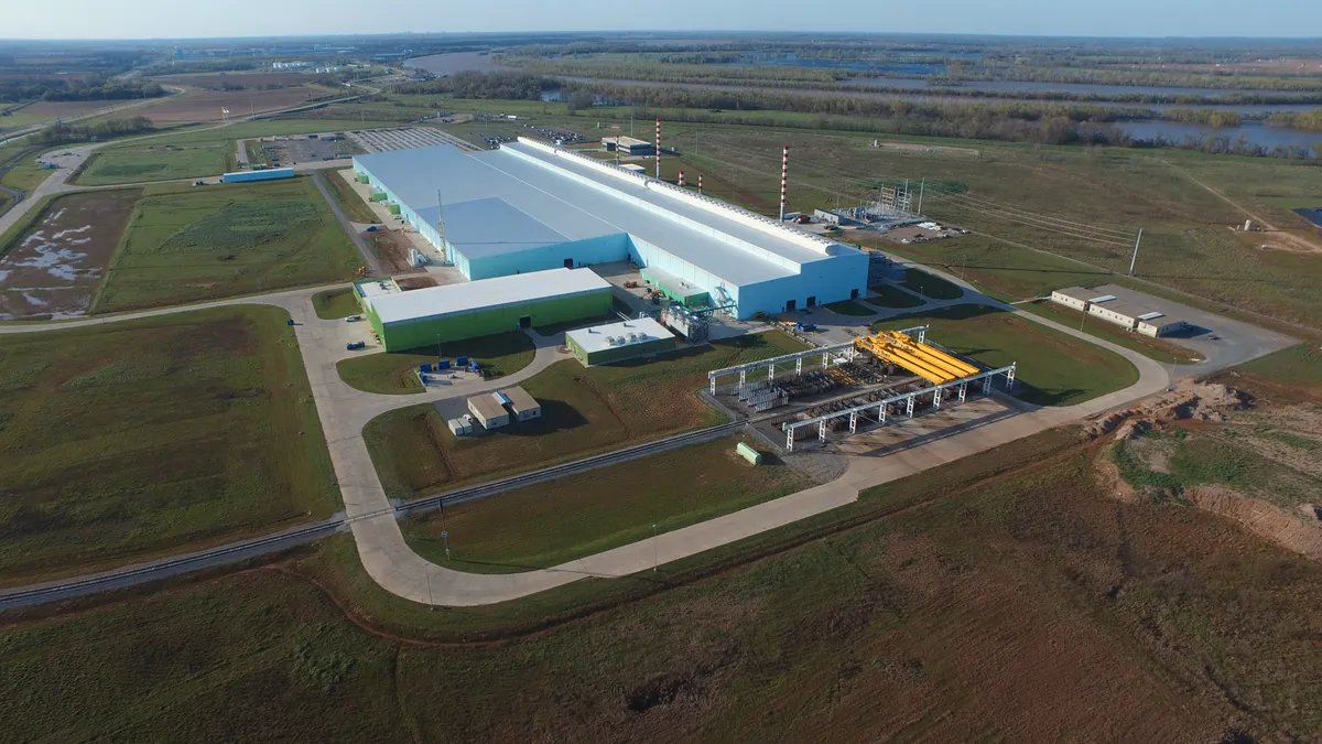
[[391, 279], [354, 283], [358, 304], [386, 351], [604, 318], [611, 285], [591, 269], [551, 269], [402, 291]]

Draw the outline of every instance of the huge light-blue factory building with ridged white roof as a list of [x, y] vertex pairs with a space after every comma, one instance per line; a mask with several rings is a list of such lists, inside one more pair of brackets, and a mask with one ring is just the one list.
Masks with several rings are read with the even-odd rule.
[[628, 259], [739, 319], [866, 293], [853, 246], [529, 139], [358, 155], [354, 171], [473, 281]]

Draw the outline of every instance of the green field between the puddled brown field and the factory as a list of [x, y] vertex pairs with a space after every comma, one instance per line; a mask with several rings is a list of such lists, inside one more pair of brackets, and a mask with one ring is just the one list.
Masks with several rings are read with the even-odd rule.
[[93, 312], [348, 279], [362, 266], [305, 177], [157, 185], [137, 203]]

